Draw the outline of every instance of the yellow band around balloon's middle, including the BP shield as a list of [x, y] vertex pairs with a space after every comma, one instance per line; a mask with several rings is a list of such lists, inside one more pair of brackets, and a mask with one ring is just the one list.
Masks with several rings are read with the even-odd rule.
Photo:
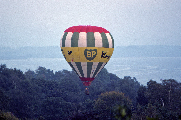
[[114, 48], [62, 47], [67, 62], [108, 62]]

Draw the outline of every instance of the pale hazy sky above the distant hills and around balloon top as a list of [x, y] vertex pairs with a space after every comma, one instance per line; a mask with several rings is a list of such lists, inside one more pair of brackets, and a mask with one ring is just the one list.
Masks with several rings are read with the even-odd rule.
[[181, 45], [181, 0], [0, 0], [0, 46], [59, 46], [75, 25], [106, 28], [116, 46]]

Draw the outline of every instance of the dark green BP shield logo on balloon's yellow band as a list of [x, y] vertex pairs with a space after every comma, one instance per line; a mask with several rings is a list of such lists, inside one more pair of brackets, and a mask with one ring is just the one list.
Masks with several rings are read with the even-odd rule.
[[97, 49], [85, 49], [84, 55], [85, 55], [87, 60], [91, 61], [96, 57]]

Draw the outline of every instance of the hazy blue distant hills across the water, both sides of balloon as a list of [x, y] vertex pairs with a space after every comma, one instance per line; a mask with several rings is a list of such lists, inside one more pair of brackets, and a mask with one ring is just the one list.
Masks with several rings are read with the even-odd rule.
[[[0, 47], [0, 59], [62, 58], [58, 46]], [[181, 46], [117, 46], [113, 53], [119, 57], [181, 57]]]

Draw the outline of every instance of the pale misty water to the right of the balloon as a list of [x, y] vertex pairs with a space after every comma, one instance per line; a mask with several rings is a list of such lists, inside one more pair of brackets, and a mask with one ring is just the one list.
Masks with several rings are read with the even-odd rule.
[[109, 72], [120, 78], [136, 77], [144, 85], [151, 79], [157, 82], [170, 78], [181, 81], [180, 57], [113, 58], [112, 61], [117, 64], [107, 64]]

